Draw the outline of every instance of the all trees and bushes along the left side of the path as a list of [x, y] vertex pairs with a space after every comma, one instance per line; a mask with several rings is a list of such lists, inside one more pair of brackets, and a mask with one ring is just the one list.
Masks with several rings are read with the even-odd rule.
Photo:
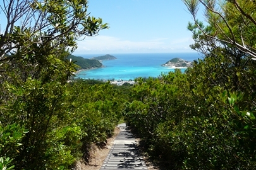
[[[0, 38], [0, 166], [71, 169], [88, 151], [84, 145], [106, 140], [120, 117], [120, 102], [111, 103], [118, 92], [109, 85], [98, 85], [105, 102], [100, 103], [91, 85], [97, 82], [67, 83], [76, 71], [66, 60], [76, 40], [107, 25], [88, 15], [83, 0], [8, 1], [1, 11], [9, 22]], [[87, 106], [92, 108], [88, 113]], [[90, 117], [101, 120], [90, 124], [98, 139], [88, 138]]]

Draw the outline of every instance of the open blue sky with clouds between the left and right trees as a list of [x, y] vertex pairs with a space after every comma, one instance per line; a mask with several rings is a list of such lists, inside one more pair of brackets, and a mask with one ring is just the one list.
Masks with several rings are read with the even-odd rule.
[[192, 16], [181, 0], [90, 0], [88, 12], [109, 29], [78, 42], [74, 54], [195, 52], [186, 28]]

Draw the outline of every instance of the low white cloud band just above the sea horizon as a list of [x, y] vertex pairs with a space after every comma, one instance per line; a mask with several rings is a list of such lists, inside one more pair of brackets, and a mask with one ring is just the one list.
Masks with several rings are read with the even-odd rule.
[[116, 37], [96, 36], [87, 37], [78, 41], [78, 48], [75, 54], [88, 53], [131, 53], [131, 52], [176, 52], [189, 50], [189, 45], [193, 43], [192, 38], [180, 38], [169, 40], [169, 38], [156, 38], [147, 41], [121, 40]]

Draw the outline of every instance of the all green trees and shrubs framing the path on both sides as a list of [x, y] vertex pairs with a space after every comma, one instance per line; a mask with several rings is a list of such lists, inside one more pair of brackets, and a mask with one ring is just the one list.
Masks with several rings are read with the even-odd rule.
[[[122, 115], [168, 169], [256, 169], [254, 1], [184, 0], [191, 47], [204, 59], [121, 87], [67, 82], [75, 41], [107, 26], [86, 1], [46, 2], [2, 3], [0, 169], [71, 169]], [[195, 17], [199, 4], [207, 26]]]

